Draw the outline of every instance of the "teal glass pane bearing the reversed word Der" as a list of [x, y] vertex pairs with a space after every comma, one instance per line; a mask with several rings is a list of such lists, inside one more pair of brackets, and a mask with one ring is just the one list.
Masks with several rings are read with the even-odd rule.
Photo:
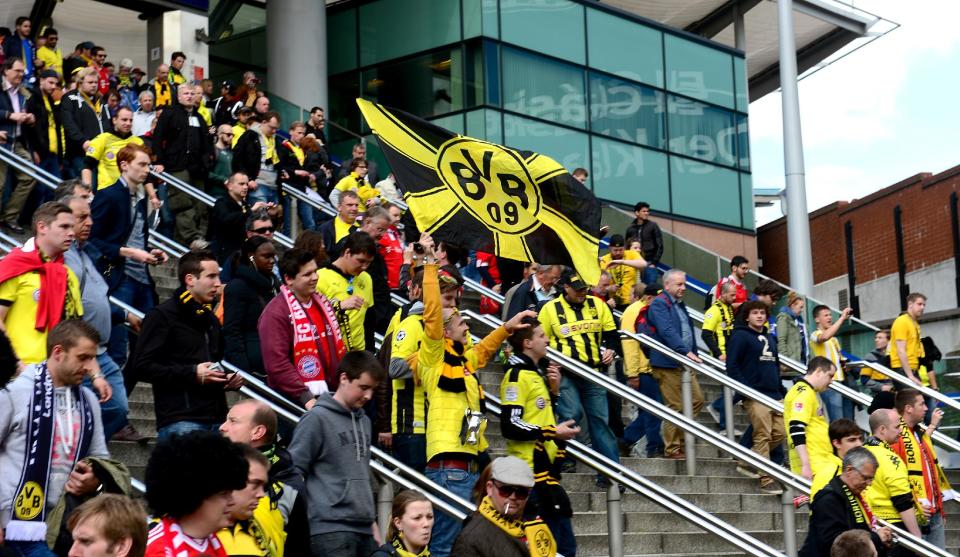
[[670, 150], [698, 159], [735, 166], [733, 112], [683, 97], [667, 96]]

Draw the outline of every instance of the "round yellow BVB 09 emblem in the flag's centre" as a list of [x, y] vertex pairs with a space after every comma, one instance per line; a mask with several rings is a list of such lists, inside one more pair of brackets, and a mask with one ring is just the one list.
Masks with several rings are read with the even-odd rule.
[[[495, 173], [494, 166], [498, 169]], [[485, 141], [458, 137], [440, 147], [437, 167], [447, 187], [487, 228], [504, 234], [526, 234], [540, 224], [540, 191], [516, 153]], [[494, 191], [508, 200], [493, 195]]]

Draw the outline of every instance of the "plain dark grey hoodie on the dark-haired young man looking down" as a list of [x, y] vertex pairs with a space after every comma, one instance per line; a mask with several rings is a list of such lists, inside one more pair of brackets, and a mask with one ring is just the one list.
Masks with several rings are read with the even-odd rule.
[[306, 480], [310, 535], [370, 534], [376, 520], [370, 486], [370, 418], [350, 411], [331, 393], [297, 424], [290, 456]]

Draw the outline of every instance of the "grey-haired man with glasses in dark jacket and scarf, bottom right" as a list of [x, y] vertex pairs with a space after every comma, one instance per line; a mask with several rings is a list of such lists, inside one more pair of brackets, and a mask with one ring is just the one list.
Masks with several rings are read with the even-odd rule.
[[877, 459], [863, 447], [849, 451], [843, 459], [843, 473], [836, 476], [810, 505], [810, 526], [800, 557], [830, 555], [830, 547], [848, 530], [864, 530], [880, 555], [893, 542], [887, 527], [876, 524], [876, 517], [863, 498], [863, 491], [877, 472]]

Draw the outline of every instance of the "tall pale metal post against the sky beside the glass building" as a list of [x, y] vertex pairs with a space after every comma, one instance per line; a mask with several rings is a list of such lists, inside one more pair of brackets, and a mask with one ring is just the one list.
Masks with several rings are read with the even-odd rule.
[[790, 284], [801, 294], [813, 293], [813, 258], [804, 181], [803, 138], [800, 133], [800, 93], [797, 87], [797, 48], [793, 35], [793, 0], [777, 2], [780, 33], [780, 87], [783, 103], [783, 163], [787, 190], [787, 245]]

